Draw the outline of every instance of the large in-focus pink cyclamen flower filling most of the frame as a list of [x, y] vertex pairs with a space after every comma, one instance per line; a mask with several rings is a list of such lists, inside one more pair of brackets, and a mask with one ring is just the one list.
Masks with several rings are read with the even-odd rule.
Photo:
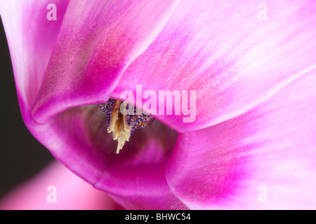
[[[315, 209], [315, 1], [0, 7], [28, 129], [126, 209]], [[195, 91], [196, 118], [154, 115], [117, 155], [98, 104], [137, 85]]]

